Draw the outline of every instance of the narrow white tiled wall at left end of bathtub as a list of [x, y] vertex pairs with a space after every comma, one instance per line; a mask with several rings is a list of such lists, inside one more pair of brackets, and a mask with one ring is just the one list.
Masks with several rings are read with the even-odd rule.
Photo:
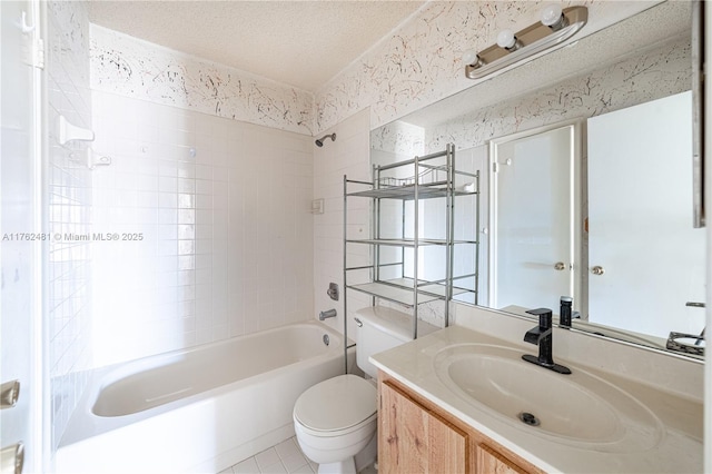
[[51, 450], [87, 385], [91, 366], [91, 246], [72, 240], [92, 220], [91, 171], [76, 157], [86, 145], [59, 145], [57, 120], [91, 128], [89, 90], [89, 18], [83, 2], [47, 4], [46, 141], [48, 207], [43, 217], [53, 237], [47, 255], [47, 361], [50, 377]]

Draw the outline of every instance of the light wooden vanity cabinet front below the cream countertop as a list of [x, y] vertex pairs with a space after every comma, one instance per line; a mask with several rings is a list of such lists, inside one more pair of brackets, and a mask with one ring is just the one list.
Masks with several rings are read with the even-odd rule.
[[380, 474], [543, 473], [383, 373], [378, 396]]

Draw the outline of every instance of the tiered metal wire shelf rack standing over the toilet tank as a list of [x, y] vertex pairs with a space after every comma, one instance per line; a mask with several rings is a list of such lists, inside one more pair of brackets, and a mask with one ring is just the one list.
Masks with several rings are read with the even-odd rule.
[[[393, 176], [395, 175], [395, 176]], [[407, 177], [398, 177], [398, 176]], [[456, 178], [467, 180], [465, 185], [456, 187]], [[356, 189], [354, 189], [356, 188]], [[366, 189], [364, 189], [366, 188]], [[390, 165], [373, 167], [373, 182], [349, 180], [344, 176], [344, 286], [366, 294], [372, 297], [372, 305], [376, 304], [376, 299], [383, 299], [395, 303], [414, 310], [413, 337], [417, 338], [417, 306], [425, 303], [437, 300], [444, 302], [445, 326], [449, 324], [449, 302], [453, 299], [477, 302], [477, 268], [479, 241], [477, 239], [476, 229], [479, 227], [479, 174], [471, 174], [455, 168], [455, 148], [447, 145], [444, 151], [435, 152], [423, 157], [414, 157], [413, 159], [398, 161]], [[370, 238], [348, 238], [348, 200], [353, 198], [370, 199]], [[455, 235], [455, 201], [456, 198], [475, 199], [475, 231], [473, 239], [454, 239]], [[400, 215], [398, 218], [382, 215], [382, 200], [402, 201]], [[428, 230], [428, 226], [418, 223], [418, 206], [421, 201], [426, 199], [442, 199], [445, 221], [445, 238], [423, 238], [421, 233]], [[409, 204], [406, 209], [405, 203]], [[436, 205], [437, 206], [437, 205]], [[400, 226], [400, 236], [384, 236], [384, 224], [387, 223], [393, 227]], [[407, 229], [406, 229], [407, 227]], [[407, 231], [406, 231], [407, 230]], [[436, 229], [442, 234], [442, 228]], [[392, 230], [393, 231], [393, 230]], [[432, 230], [431, 230], [432, 231]], [[413, 236], [413, 237], [409, 237]], [[352, 266], [347, 265], [348, 246], [366, 245], [369, 246], [368, 265]], [[471, 250], [473, 255], [472, 271], [466, 275], [454, 276], [454, 248], [455, 246], [474, 246]], [[389, 257], [389, 263], [382, 263], [382, 247], [400, 248], [399, 259], [393, 261], [394, 257]], [[445, 249], [445, 258], [438, 257], [436, 265], [439, 266], [437, 274], [444, 275], [444, 278], [436, 280], [427, 280], [419, 278], [415, 282], [415, 275], [418, 275], [419, 264], [418, 255], [425, 253], [426, 248], [441, 247]], [[406, 249], [409, 253], [409, 259], [406, 258]], [[389, 250], [390, 254], [394, 250]], [[438, 250], [443, 251], [443, 250]], [[397, 253], [397, 250], [396, 250]], [[431, 261], [432, 264], [433, 261]], [[431, 265], [433, 266], [433, 265]], [[399, 267], [399, 276], [394, 276], [394, 267]], [[406, 267], [412, 275], [406, 275]], [[353, 274], [360, 271], [360, 282], [352, 283]], [[368, 271], [368, 277], [364, 277], [364, 273]], [[388, 273], [389, 277], [382, 278], [382, 274]], [[466, 280], [465, 285], [455, 286], [455, 280]], [[365, 280], [365, 282], [364, 282]], [[468, 285], [467, 285], [468, 283]], [[344, 310], [348, 314], [347, 292], [344, 292]], [[456, 297], [456, 298], [455, 298]]]

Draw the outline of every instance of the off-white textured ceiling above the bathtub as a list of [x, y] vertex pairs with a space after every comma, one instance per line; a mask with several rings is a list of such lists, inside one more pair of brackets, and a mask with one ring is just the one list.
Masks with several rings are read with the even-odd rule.
[[424, 1], [89, 1], [91, 22], [316, 91]]

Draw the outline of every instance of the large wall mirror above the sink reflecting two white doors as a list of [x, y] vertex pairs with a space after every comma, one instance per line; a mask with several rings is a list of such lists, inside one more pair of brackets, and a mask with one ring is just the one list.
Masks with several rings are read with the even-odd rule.
[[704, 330], [691, 26], [692, 3], [663, 2], [372, 131], [374, 162], [452, 142], [479, 171], [478, 219], [455, 221], [481, 241], [464, 303], [571, 296], [575, 328], [656, 348]]

